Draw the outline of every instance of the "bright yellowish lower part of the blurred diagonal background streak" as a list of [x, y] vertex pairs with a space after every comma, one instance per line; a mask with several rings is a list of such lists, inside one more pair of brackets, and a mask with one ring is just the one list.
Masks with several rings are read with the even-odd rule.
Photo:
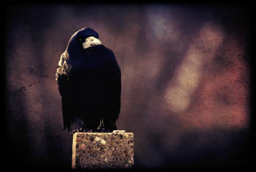
[[200, 82], [201, 66], [203, 54], [191, 48], [186, 55], [182, 65], [177, 70], [177, 74], [166, 92], [165, 98], [171, 104], [173, 112], [185, 111], [190, 104], [191, 95]]

